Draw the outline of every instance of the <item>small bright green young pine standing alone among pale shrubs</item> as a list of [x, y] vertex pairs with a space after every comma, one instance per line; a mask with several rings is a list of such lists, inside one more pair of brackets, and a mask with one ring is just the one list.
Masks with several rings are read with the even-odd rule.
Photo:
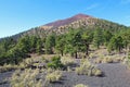
[[53, 57], [51, 62], [48, 63], [48, 67], [51, 67], [51, 69], [62, 69], [63, 64], [61, 63], [61, 57]]

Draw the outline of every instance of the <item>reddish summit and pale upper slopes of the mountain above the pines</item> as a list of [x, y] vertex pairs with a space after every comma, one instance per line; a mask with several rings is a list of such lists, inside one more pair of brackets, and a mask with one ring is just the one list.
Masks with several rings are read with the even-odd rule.
[[80, 28], [80, 27], [83, 27], [84, 29], [94, 29], [94, 28], [112, 29], [114, 32], [117, 32], [118, 29], [121, 28], [127, 28], [127, 26], [125, 25], [120, 25], [110, 21], [101, 20], [80, 13], [65, 20], [58, 20], [52, 23], [48, 23], [46, 25], [30, 28], [29, 30], [13, 35], [11, 37], [14, 39], [17, 39], [25, 35], [37, 35], [40, 37], [44, 37], [51, 33], [64, 34], [68, 32], [69, 28]]

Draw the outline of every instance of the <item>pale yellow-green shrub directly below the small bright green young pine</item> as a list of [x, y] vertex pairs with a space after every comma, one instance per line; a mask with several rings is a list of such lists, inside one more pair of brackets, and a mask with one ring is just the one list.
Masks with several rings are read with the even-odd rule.
[[62, 78], [62, 72], [54, 71], [52, 73], [47, 74], [46, 80], [50, 83], [58, 82]]

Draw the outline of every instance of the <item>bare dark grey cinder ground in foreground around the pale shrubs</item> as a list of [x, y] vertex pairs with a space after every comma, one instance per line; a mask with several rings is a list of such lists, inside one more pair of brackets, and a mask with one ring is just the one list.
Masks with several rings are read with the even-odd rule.
[[[105, 49], [102, 49], [100, 52], [95, 51], [95, 54], [98, 54], [96, 52], [100, 54], [107, 54]], [[123, 58], [125, 54], [115, 54], [113, 58], [115, 57]], [[78, 59], [76, 60], [79, 61]], [[89, 87], [130, 87], [130, 70], [128, 70], [125, 64], [103, 63], [96, 64], [96, 66], [104, 73], [104, 76], [90, 77], [87, 75], [77, 75], [74, 71], [64, 71], [62, 79], [57, 83], [49, 84], [48, 87], [74, 87], [77, 84], [84, 84]], [[0, 73], [0, 87], [11, 87], [10, 83], [5, 79], [11, 77], [13, 72], [14, 71]]]

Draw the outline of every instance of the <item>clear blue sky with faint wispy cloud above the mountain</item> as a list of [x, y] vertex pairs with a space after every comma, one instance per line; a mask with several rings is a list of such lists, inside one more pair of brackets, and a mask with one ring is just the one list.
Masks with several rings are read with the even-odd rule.
[[130, 26], [130, 0], [0, 0], [0, 38], [78, 13]]

